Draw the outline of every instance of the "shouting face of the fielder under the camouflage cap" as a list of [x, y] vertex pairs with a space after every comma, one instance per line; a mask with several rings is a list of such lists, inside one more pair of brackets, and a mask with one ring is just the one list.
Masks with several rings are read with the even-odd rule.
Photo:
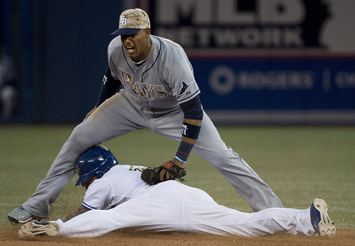
[[144, 60], [151, 48], [150, 29], [142, 29], [133, 35], [121, 35], [121, 42], [129, 58], [136, 62]]

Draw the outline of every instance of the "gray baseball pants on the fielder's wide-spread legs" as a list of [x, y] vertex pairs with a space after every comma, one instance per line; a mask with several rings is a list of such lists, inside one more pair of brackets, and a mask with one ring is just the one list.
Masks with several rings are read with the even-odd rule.
[[[36, 216], [47, 217], [50, 205], [75, 175], [76, 158], [85, 150], [107, 140], [137, 129], [150, 128], [156, 134], [181, 141], [183, 112], [179, 107], [169, 112], [153, 114], [152, 111], [137, 106], [129, 102], [124, 91], [120, 90], [77, 125], [46, 177], [23, 206]], [[253, 211], [282, 207], [281, 201], [270, 187], [232, 148], [225, 145], [205, 113], [199, 138], [192, 151], [217, 168]]]

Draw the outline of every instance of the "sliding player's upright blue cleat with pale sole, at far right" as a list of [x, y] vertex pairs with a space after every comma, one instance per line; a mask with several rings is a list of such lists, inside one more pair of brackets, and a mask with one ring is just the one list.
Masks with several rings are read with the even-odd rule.
[[332, 237], [335, 234], [335, 223], [328, 214], [328, 205], [324, 200], [316, 198], [310, 206], [311, 222], [313, 228], [320, 236]]

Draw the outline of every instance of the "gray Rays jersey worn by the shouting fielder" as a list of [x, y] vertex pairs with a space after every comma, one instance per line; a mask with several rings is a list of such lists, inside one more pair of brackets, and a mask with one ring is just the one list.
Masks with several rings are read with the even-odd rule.
[[124, 85], [126, 97], [138, 108], [175, 108], [200, 93], [192, 66], [182, 47], [150, 35], [149, 58], [137, 66], [126, 54], [121, 36], [108, 46], [108, 64], [113, 78]]

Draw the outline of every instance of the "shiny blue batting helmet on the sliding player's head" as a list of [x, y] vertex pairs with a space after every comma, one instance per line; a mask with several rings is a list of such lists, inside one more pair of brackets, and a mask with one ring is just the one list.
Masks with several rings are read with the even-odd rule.
[[101, 178], [112, 166], [117, 164], [117, 159], [104, 146], [94, 146], [86, 150], [75, 162], [75, 171], [79, 175], [75, 186], [88, 181], [95, 173], [98, 178]]

